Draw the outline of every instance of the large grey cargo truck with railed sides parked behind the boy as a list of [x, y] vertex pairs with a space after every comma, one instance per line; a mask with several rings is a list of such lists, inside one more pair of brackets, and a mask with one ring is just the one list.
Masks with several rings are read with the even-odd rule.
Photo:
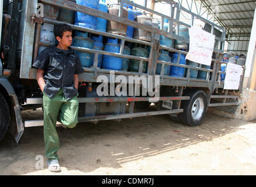
[[[39, 16], [39, 5], [50, 5], [54, 8], [53, 12], [56, 9], [66, 9], [85, 13], [96, 18], [106, 19], [108, 22], [115, 22], [117, 25], [122, 24], [133, 27], [134, 30], [138, 29], [142, 32], [150, 33], [150, 40], [140, 40], [123, 36], [122, 34], [102, 32], [101, 30], [67, 23], [74, 32], [78, 30], [80, 32], [98, 34], [97, 36], [103, 36], [105, 39], [107, 37], [118, 39], [120, 44], [120, 49], [117, 53], [71, 46], [72, 49], [80, 53], [94, 55], [92, 65], [83, 67], [84, 73], [79, 75], [79, 122], [97, 123], [101, 120], [120, 121], [141, 116], [169, 115], [170, 120], [177, 120], [189, 126], [198, 126], [209, 107], [237, 108], [239, 105], [238, 98], [243, 87], [245, 66], [243, 66], [239, 88], [235, 90], [224, 89], [222, 75], [226, 74], [226, 72], [221, 71], [221, 65], [227, 64], [222, 60], [225, 28], [185, 9], [177, 2], [170, 0], [162, 0], [162, 2], [170, 6], [170, 15], [147, 8], [146, 0], [144, 0], [144, 5], [128, 0], [119, 0], [117, 15], [67, 0], [1, 1], [0, 141], [9, 131], [18, 143], [26, 128], [43, 126], [43, 119], [24, 120], [22, 111], [36, 110], [37, 108], [42, 108], [43, 104], [43, 95], [36, 81], [36, 69], [32, 68], [32, 64], [39, 54], [39, 47], [48, 47], [53, 45], [54, 42], [40, 41], [41, 26], [45, 23], [56, 25], [63, 22], [58, 19]], [[153, 15], [158, 16], [157, 22], [164, 23], [164, 20], [168, 20], [169, 28], [171, 29], [164, 30], [164, 24], [159, 26], [157, 22], [143, 24], [136, 20], [124, 18], [123, 8], [126, 5], [140, 9], [141, 12], [150, 13], [151, 17]], [[189, 24], [180, 20], [182, 12], [190, 16], [191, 22]], [[161, 60], [162, 50], [167, 51], [168, 54], [177, 54], [178, 62], [182, 56], [188, 54], [188, 50], [175, 49], [174, 46], [167, 47], [160, 44], [160, 37], [164, 36], [172, 41], [188, 44], [189, 39], [181, 36], [179, 33], [181, 32], [180, 28], [181, 26], [192, 27], [195, 19], [204, 23], [203, 30], [215, 34], [215, 47], [211, 66], [205, 67], [202, 64], [193, 66]], [[172, 30], [174, 27], [177, 28], [176, 32]], [[124, 48], [127, 43], [146, 49], [149, 52], [148, 56], [124, 54]], [[99, 56], [122, 58], [128, 60], [129, 63], [136, 61], [138, 70], [137, 72], [109, 70], [108, 68], [98, 67]], [[143, 70], [144, 63], [147, 63], [145, 71]], [[158, 64], [161, 64], [161, 68], [160, 73], [157, 75]], [[183, 68], [186, 73], [181, 77], [170, 76], [165, 74], [166, 65], [171, 66], [171, 70], [172, 68]], [[204, 72], [206, 77], [203, 79], [191, 77], [192, 71]], [[131, 77], [133, 79], [131, 82], [116, 81], [120, 77], [126, 80], [130, 80], [129, 78]], [[107, 81], [103, 81], [104, 78]], [[144, 93], [143, 90], [145, 91], [144, 79], [147, 80], [146, 84], [151, 85], [150, 89], [146, 89], [146, 91], [150, 90], [146, 94], [142, 94]], [[159, 85], [152, 86], [157, 85], [156, 82], [159, 82]], [[99, 89], [99, 86], [102, 84], [106, 86], [106, 94], [99, 96], [98, 92], [102, 90]], [[129, 93], [126, 91], [128, 86]], [[119, 90], [120, 92], [120, 88], [123, 93], [127, 94], [116, 94], [117, 92], [115, 91]], [[132, 91], [130, 91], [130, 88]], [[112, 92], [114, 91], [112, 94], [110, 94], [111, 89]], [[154, 93], [158, 93], [158, 95], [154, 95]], [[150, 107], [152, 103], [155, 108]]]

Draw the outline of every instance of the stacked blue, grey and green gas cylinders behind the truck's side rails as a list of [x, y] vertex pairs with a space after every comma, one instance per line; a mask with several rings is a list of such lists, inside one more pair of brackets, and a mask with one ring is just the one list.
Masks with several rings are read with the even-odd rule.
[[[118, 16], [119, 14], [119, 4], [107, 5], [105, 0], [69, 0], [72, 3], [76, 3], [78, 5], [87, 6], [89, 8], [98, 9], [102, 12], [108, 12], [112, 15]], [[44, 13], [47, 18], [59, 20], [64, 23], [70, 23], [81, 27], [87, 27], [89, 29], [98, 30], [101, 32], [108, 32], [112, 34], [117, 34], [120, 36], [126, 36], [137, 40], [144, 40], [151, 42], [151, 32], [146, 32], [143, 29], [133, 28], [131, 26], [124, 25], [123, 23], [118, 23], [115, 21], [106, 20], [103, 18], [94, 17], [91, 15], [87, 15], [82, 12], [74, 12], [68, 9], [57, 8], [56, 6], [52, 6], [47, 4], [44, 6]], [[153, 26], [153, 16], [150, 13], [146, 13], [141, 11], [140, 9], [135, 9], [133, 6], [124, 4], [123, 5], [123, 18], [133, 20], [135, 22]], [[157, 23], [158, 24], [158, 23]], [[176, 33], [178, 36], [189, 38], [188, 27], [179, 26], [179, 28], [169, 28], [169, 20], [164, 19], [164, 23], [161, 23], [159, 28], [162, 27], [165, 32]], [[45, 41], [48, 43], [56, 43], [56, 39], [53, 34], [54, 25], [50, 25], [47, 23], [43, 23], [41, 27], [41, 41]], [[82, 32], [75, 30], [73, 34], [73, 42], [72, 46], [82, 47], [87, 49], [95, 49], [95, 50], [104, 50], [112, 53], [120, 53], [120, 40], [111, 38], [111, 37], [103, 37], [98, 34], [91, 34], [87, 32]], [[189, 44], [184, 43], [178, 40], [172, 40], [165, 36], [160, 36], [160, 45], [165, 47], [172, 47], [178, 50], [188, 51]], [[40, 47], [39, 51], [43, 50], [45, 47]], [[94, 66], [94, 53], [85, 53], [81, 51], [76, 51], [78, 54], [81, 65], [84, 68], [89, 68]], [[125, 42], [123, 54], [145, 57], [148, 58], [150, 54], [150, 46], [144, 45], [134, 45], [133, 43]], [[194, 63], [192, 61], [188, 61], [185, 59], [184, 54], [171, 53], [167, 50], [159, 51], [158, 60], [165, 61], [170, 63], [170, 65], [164, 65], [164, 75], [168, 75], [171, 77], [184, 77], [188, 74], [188, 68], [177, 67], [171, 65], [171, 63], [175, 64], [187, 64], [193, 67], [199, 67], [198, 63]], [[179, 60], [179, 61], [178, 61]], [[240, 60], [242, 61], [242, 60]], [[243, 62], [241, 62], [242, 64]], [[113, 57], [108, 55], [98, 55], [98, 68], [104, 68], [108, 70], [122, 70], [122, 71], [131, 71], [131, 72], [139, 72], [140, 61], [133, 60], [129, 58], [121, 58], [121, 57]], [[210, 68], [208, 66], [202, 65], [203, 68]], [[146, 73], [148, 68], [148, 62], [143, 61], [142, 72]], [[162, 64], [157, 64], [155, 68], [156, 74], [161, 74]], [[206, 79], [206, 71], [198, 71], [194, 69], [190, 69], [190, 77], [191, 78], [202, 78]]]

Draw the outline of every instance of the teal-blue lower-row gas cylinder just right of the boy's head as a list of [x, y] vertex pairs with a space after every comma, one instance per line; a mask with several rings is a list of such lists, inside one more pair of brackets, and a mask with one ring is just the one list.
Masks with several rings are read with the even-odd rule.
[[[78, 35], [80, 36], [75, 36], [73, 38], [72, 46], [94, 49], [94, 41], [92, 39], [90, 39], [89, 37], [81, 37], [81, 35], [88, 36], [88, 33], [82, 33]], [[94, 58], [92, 53], [84, 53], [81, 51], [75, 51], [75, 53], [78, 54], [82, 67], [91, 67], [94, 64]]]

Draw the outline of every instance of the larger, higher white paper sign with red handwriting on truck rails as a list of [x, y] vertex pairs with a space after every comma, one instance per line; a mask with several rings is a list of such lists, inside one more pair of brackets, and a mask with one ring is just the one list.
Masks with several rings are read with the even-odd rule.
[[189, 29], [189, 52], [186, 59], [195, 63], [210, 65], [215, 45], [215, 35], [197, 27]]

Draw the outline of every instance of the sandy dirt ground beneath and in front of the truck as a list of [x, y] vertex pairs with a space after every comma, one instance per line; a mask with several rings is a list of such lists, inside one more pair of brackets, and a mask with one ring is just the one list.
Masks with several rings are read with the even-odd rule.
[[[24, 120], [42, 111], [22, 112]], [[189, 127], [168, 115], [57, 127], [61, 172], [47, 169], [43, 127], [27, 127], [18, 144], [0, 143], [1, 175], [255, 175], [256, 121], [207, 113]], [[42, 159], [43, 160], [42, 160]], [[41, 168], [38, 161], [44, 161]], [[40, 162], [42, 163], [42, 162]]]

